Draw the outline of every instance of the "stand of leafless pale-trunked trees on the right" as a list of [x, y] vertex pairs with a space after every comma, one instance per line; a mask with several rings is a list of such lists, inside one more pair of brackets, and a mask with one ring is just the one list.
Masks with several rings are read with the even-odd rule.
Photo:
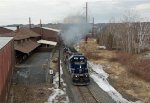
[[129, 53], [140, 53], [146, 46], [146, 37], [150, 37], [150, 23], [141, 22], [136, 12], [129, 11], [115, 23], [115, 19], [103, 27], [99, 33], [99, 43], [107, 48], [121, 49]]

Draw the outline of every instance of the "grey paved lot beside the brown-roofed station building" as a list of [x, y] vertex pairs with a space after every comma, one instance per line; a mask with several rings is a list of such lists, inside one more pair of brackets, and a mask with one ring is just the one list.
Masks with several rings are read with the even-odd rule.
[[14, 81], [18, 83], [43, 83], [47, 76], [47, 63], [50, 52], [32, 54], [26, 61], [17, 65]]

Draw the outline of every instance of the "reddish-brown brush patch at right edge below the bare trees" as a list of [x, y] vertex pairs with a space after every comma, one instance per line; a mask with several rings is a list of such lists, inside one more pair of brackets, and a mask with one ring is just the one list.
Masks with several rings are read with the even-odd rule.
[[131, 55], [125, 52], [117, 52], [118, 60], [126, 65], [128, 70], [145, 80], [150, 80], [150, 60], [142, 59], [138, 55]]

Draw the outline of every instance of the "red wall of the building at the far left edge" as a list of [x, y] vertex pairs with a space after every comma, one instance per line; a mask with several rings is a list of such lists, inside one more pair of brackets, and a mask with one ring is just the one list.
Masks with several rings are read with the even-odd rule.
[[6, 103], [14, 68], [13, 40], [0, 49], [0, 103]]

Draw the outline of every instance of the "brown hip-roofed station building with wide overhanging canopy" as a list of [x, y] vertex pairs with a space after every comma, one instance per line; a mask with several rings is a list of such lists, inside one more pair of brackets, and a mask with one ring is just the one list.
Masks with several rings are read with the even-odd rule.
[[19, 28], [11, 33], [0, 34], [0, 36], [14, 37], [14, 49], [16, 53], [16, 63], [22, 62], [32, 53], [40, 44], [41, 35], [28, 28]]

